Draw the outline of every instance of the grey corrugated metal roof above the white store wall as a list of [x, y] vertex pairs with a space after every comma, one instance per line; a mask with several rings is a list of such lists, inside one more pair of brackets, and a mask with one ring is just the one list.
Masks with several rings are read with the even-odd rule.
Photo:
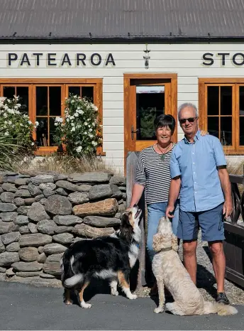
[[243, 38], [244, 0], [0, 0], [0, 38]]

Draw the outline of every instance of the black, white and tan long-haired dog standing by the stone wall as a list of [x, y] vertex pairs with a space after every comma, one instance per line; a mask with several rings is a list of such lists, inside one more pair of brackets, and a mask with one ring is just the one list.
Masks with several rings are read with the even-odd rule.
[[84, 289], [89, 285], [91, 278], [109, 279], [112, 295], [118, 295], [119, 283], [127, 298], [137, 298], [131, 293], [129, 276], [138, 258], [140, 215], [141, 210], [134, 205], [131, 210], [123, 213], [121, 227], [115, 234], [80, 240], [65, 251], [60, 265], [67, 305], [72, 304], [70, 291], [75, 290], [79, 305], [82, 308], [91, 308], [83, 298]]

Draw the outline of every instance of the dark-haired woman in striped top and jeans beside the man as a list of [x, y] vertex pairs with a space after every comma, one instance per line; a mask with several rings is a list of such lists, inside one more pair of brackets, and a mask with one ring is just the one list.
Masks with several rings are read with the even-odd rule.
[[[175, 120], [172, 115], [160, 115], [154, 121], [157, 143], [140, 152], [136, 169], [135, 184], [133, 186], [131, 204], [137, 205], [145, 190], [145, 201], [148, 208], [148, 237], [147, 249], [150, 261], [153, 261], [153, 236], [157, 233], [157, 225], [162, 216], [165, 216], [170, 190], [170, 157], [175, 143], [172, 142]], [[201, 132], [201, 135], [204, 135]], [[179, 199], [174, 205], [172, 229], [177, 234], [179, 220]], [[151, 293], [157, 291], [156, 284]]]

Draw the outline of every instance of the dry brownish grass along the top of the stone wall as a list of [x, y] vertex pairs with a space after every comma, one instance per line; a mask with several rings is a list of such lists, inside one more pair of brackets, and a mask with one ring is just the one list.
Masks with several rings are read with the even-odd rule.
[[116, 173], [116, 170], [107, 165], [102, 158], [82, 156], [75, 158], [73, 156], [58, 156], [51, 154], [45, 158], [22, 161], [13, 165], [13, 170], [19, 173], [26, 173], [28, 171], [42, 171], [55, 173], [63, 173], [68, 175], [70, 173], [86, 173], [94, 171], [104, 171], [107, 173]]

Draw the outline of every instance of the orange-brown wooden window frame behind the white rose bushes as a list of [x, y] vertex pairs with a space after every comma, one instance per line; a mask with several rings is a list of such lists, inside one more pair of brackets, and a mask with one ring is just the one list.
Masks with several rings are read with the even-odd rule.
[[[0, 79], [0, 97], [3, 96], [3, 87], [28, 87], [28, 97], [29, 97], [29, 117], [30, 121], [34, 123], [35, 121], [35, 86], [61, 86], [61, 116], [64, 116], [65, 113], [65, 97], [68, 95], [68, 86], [94, 86], [94, 104], [99, 109], [99, 119], [100, 124], [102, 125], [103, 121], [103, 79], [102, 78], [2, 78]], [[35, 138], [35, 133], [33, 134]], [[44, 156], [49, 153], [57, 151], [57, 146], [47, 146], [39, 147], [35, 152], [37, 156]], [[106, 153], [103, 151], [103, 146], [96, 149], [96, 154], [98, 156], [106, 156]]]

